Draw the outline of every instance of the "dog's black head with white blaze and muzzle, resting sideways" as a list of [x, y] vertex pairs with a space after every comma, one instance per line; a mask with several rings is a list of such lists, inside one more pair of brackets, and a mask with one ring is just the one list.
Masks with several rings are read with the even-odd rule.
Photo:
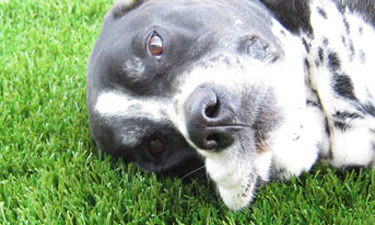
[[272, 139], [305, 101], [288, 35], [257, 1], [118, 3], [88, 65], [98, 148], [153, 171], [200, 155], [224, 202], [244, 207], [269, 179]]

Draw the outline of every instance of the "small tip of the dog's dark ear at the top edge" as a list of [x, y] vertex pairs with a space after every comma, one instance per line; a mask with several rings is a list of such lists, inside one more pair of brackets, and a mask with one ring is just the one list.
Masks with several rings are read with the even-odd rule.
[[113, 20], [122, 17], [130, 10], [137, 8], [147, 0], [118, 0], [105, 16], [106, 19]]

